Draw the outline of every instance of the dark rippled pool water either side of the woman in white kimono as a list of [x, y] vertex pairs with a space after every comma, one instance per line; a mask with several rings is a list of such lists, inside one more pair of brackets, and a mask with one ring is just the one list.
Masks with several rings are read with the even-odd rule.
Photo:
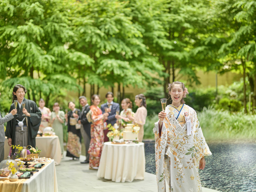
[[[218, 191], [256, 191], [256, 143], [207, 143], [212, 154], [199, 170], [203, 187]], [[156, 174], [155, 143], [145, 142], [146, 172]]]

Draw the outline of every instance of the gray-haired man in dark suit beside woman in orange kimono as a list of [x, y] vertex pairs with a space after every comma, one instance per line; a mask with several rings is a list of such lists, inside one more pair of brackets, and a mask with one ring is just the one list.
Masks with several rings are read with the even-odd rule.
[[91, 140], [91, 123], [88, 122], [86, 118], [86, 114], [90, 110], [90, 105], [87, 103], [87, 99], [85, 96], [80, 96], [79, 97], [79, 103], [82, 105], [82, 110], [79, 115], [79, 120], [78, 123], [82, 124], [82, 127], [80, 129], [81, 134], [84, 138], [84, 143], [85, 143], [85, 156], [86, 160], [80, 163], [89, 163], [89, 145], [90, 145], [90, 140]]

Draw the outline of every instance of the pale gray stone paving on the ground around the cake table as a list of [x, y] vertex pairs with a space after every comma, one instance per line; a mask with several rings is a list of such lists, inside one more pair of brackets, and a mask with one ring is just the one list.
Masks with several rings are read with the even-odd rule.
[[[84, 161], [85, 156], [80, 156]], [[97, 179], [97, 171], [90, 170], [89, 164], [69, 160], [64, 157], [56, 166], [59, 192], [157, 192], [156, 175], [145, 172], [144, 180], [115, 183], [111, 180]], [[217, 192], [203, 187], [203, 192]]]

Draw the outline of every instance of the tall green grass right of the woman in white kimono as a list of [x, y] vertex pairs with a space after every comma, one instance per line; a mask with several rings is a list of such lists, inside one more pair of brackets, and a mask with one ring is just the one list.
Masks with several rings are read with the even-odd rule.
[[205, 139], [256, 138], [256, 116], [204, 107], [197, 113]]

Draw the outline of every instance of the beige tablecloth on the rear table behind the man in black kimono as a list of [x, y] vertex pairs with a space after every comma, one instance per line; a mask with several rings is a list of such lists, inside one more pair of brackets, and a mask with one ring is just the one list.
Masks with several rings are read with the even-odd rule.
[[[61, 148], [58, 136], [42, 136], [36, 137], [36, 146], [42, 150], [39, 157], [47, 157], [54, 159], [55, 165], [59, 165], [61, 162]], [[8, 145], [8, 139], [5, 137], [4, 142], [4, 159], [7, 159], [9, 155], [10, 147]]]

